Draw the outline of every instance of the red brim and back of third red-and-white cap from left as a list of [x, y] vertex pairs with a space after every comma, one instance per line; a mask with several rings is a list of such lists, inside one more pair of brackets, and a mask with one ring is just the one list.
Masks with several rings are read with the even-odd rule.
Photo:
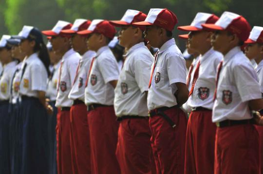
[[79, 35], [89, 35], [92, 33], [99, 33], [99, 34], [105, 35], [106, 37], [113, 39], [117, 31], [115, 30], [114, 26], [110, 24], [108, 20], [103, 20], [102, 22], [96, 25], [94, 31], [83, 30], [83, 31], [77, 32], [77, 34]]

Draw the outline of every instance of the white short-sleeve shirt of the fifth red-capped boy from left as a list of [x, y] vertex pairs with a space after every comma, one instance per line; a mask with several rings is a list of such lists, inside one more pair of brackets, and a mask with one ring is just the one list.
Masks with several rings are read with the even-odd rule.
[[175, 83], [186, 84], [186, 71], [186, 61], [176, 46], [174, 38], [172, 38], [158, 52], [158, 59], [147, 98], [149, 110], [177, 105], [174, 96], [177, 91]]

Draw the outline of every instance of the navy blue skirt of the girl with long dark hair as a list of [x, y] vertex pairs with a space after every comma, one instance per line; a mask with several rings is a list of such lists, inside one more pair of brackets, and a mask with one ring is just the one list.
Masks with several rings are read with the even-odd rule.
[[48, 114], [38, 98], [22, 97], [22, 163], [20, 174], [48, 174]]

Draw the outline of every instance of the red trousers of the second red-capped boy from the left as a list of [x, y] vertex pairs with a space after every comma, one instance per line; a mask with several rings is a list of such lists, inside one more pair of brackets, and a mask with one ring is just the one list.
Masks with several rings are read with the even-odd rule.
[[90, 133], [87, 113], [85, 104], [75, 104], [70, 109], [73, 174], [91, 174]]

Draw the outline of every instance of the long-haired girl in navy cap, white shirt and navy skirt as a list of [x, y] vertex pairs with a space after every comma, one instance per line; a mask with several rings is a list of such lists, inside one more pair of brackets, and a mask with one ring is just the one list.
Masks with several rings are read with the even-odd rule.
[[22, 118], [22, 158], [20, 174], [47, 173], [47, 77], [49, 55], [41, 32], [24, 26], [14, 38], [20, 39], [19, 50], [25, 54], [21, 68], [19, 117]]

